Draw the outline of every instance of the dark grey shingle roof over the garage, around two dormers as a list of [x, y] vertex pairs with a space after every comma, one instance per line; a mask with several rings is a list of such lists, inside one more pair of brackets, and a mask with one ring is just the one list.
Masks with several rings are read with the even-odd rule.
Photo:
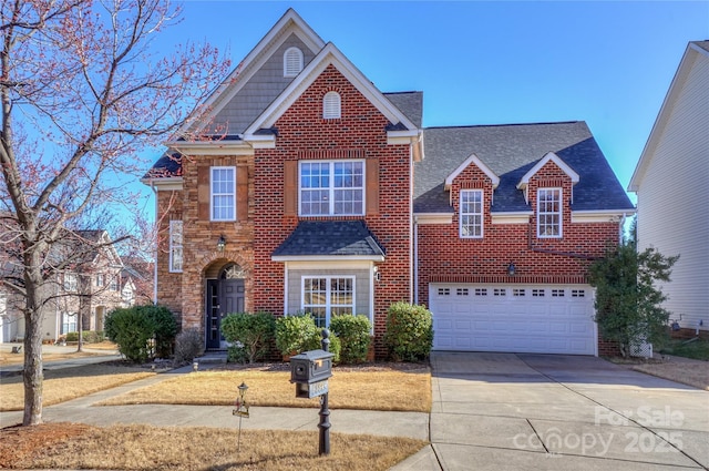
[[425, 160], [414, 164], [414, 213], [453, 212], [445, 178], [471, 154], [500, 176], [493, 213], [530, 211], [517, 184], [549, 152], [579, 175], [574, 211], [635, 211], [583, 121], [429, 127], [423, 144]]

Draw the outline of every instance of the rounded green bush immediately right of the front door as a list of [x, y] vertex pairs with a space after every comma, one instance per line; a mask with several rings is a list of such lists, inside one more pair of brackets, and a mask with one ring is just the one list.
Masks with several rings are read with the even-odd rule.
[[232, 342], [230, 361], [253, 364], [268, 354], [276, 320], [269, 313], [236, 313], [222, 319], [222, 334]]

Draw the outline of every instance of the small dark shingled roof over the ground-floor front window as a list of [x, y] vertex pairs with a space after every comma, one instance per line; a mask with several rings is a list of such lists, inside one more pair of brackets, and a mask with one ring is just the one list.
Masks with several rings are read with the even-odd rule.
[[301, 221], [271, 259], [330, 258], [382, 260], [384, 250], [363, 221]]

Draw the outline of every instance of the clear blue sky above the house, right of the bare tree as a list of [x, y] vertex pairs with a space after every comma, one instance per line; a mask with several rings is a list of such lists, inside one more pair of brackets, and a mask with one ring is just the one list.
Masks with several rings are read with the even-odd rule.
[[586, 121], [624, 187], [687, 43], [709, 39], [709, 1], [179, 4], [161, 43], [235, 65], [292, 7], [382, 92], [422, 91], [424, 126]]

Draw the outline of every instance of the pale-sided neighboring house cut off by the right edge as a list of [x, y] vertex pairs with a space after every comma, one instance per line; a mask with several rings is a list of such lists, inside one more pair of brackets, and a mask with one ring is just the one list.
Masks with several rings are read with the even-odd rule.
[[679, 255], [665, 307], [681, 328], [709, 330], [709, 41], [690, 42], [628, 190], [640, 249]]

